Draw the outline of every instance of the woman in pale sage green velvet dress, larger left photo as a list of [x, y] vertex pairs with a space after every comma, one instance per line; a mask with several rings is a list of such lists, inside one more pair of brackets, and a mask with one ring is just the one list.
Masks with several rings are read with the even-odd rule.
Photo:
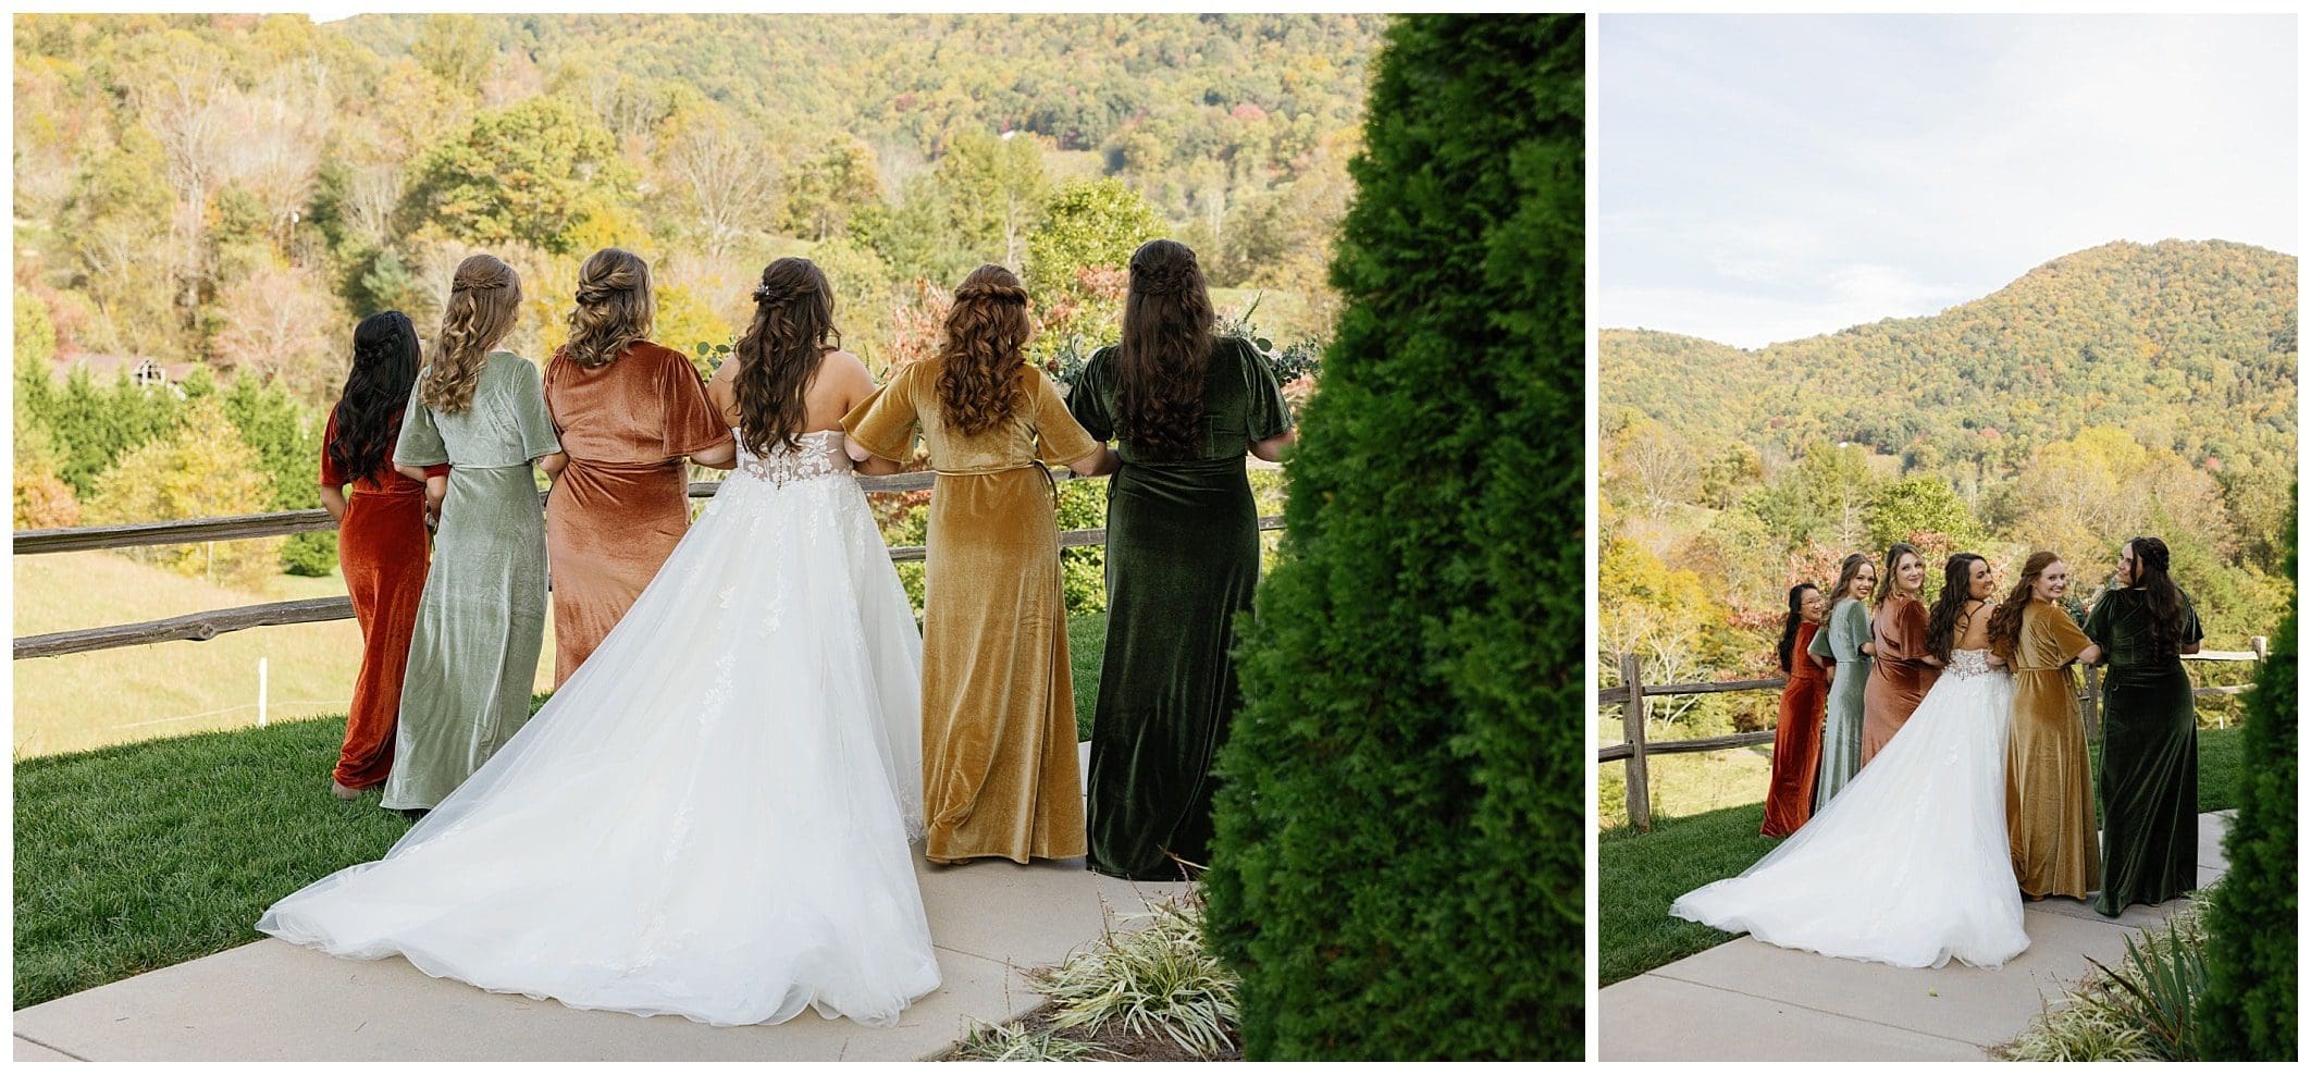
[[409, 640], [388, 809], [432, 809], [529, 721], [545, 638], [545, 518], [532, 462], [569, 455], [538, 368], [492, 351], [522, 310], [522, 280], [490, 254], [458, 264], [434, 361], [409, 395], [393, 465], [451, 465], [434, 562]]

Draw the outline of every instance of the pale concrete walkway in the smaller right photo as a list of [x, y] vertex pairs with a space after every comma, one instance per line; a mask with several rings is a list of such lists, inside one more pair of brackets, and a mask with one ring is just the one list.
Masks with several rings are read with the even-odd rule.
[[[2230, 811], [2198, 816], [2198, 883], [2223, 876]], [[2117, 920], [2078, 899], [2022, 904], [2029, 950], [1997, 971], [1950, 962], [1914, 971], [1830, 959], [1747, 934], [1613, 983], [1597, 994], [1606, 1061], [1983, 1061], [2013, 1040], [2087, 959], [2112, 964], [2126, 939], [2184, 902]]]

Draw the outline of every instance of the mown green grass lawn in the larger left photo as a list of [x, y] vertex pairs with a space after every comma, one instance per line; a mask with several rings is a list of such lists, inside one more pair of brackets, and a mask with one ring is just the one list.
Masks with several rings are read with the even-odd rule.
[[[1084, 735], [1105, 638], [1068, 624]], [[275, 899], [384, 855], [409, 823], [328, 793], [342, 740], [324, 717], [16, 761], [16, 1008], [257, 941]]]

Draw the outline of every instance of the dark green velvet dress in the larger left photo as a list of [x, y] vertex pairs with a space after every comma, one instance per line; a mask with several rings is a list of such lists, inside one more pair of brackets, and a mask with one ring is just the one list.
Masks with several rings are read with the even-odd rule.
[[[1121, 354], [1091, 356], [1068, 409], [1116, 435]], [[1091, 869], [1176, 881], [1172, 855], [1209, 865], [1211, 758], [1241, 694], [1227, 652], [1259, 583], [1259, 513], [1243, 476], [1253, 442], [1292, 428], [1276, 375], [1241, 340], [1204, 372], [1204, 444], [1149, 460], [1130, 442], [1107, 485], [1107, 657], [1091, 724]]]

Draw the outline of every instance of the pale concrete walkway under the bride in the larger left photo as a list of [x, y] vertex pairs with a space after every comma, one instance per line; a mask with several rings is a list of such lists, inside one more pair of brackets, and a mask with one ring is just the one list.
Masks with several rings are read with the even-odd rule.
[[[580, 1013], [428, 978], [409, 962], [351, 962], [284, 941], [169, 966], [16, 1013], [18, 1061], [913, 1061], [945, 1052], [973, 1020], [1042, 1006], [1021, 971], [1052, 966], [1102, 932], [1102, 911], [1142, 911], [1186, 883], [1132, 883], [1084, 860], [915, 860], [941, 987], [899, 1026], [804, 1010], [779, 1026], [703, 1026], [677, 1015]], [[1135, 925], [1135, 922], [1119, 922]]]

